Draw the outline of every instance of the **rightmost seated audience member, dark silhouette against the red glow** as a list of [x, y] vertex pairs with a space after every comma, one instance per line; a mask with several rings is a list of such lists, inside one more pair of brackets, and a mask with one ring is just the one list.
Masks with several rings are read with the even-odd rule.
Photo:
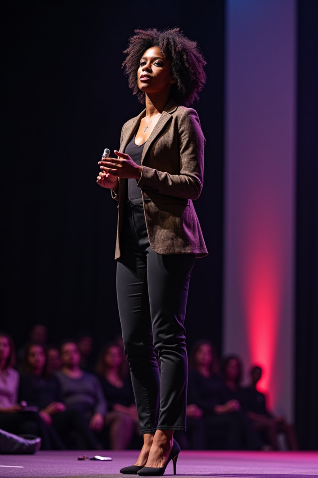
[[267, 435], [269, 444], [278, 450], [277, 434], [283, 433], [286, 436], [287, 445], [290, 450], [297, 450], [297, 438], [294, 427], [288, 424], [284, 417], [275, 417], [269, 413], [266, 407], [264, 393], [257, 390], [257, 383], [261, 379], [262, 369], [259, 366], [251, 368], [251, 383], [244, 389], [247, 416], [258, 431], [264, 431]]

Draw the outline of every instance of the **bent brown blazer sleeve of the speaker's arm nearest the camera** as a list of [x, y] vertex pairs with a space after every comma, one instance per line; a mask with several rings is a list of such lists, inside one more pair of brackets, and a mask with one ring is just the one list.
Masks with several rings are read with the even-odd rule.
[[178, 120], [180, 174], [143, 165], [137, 186], [168, 196], [197, 199], [203, 186], [205, 138], [195, 109], [186, 108]]

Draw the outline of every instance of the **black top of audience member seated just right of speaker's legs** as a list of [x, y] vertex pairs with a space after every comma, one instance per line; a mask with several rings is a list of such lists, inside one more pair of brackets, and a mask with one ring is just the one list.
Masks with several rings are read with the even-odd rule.
[[204, 377], [196, 370], [189, 371], [188, 404], [195, 403], [205, 414], [211, 415], [215, 405], [226, 402], [226, 391], [222, 378], [219, 375]]

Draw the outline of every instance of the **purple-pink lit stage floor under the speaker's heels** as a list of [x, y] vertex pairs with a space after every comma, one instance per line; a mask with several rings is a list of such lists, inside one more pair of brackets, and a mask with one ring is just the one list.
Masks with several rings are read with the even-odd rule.
[[[40, 451], [36, 455], [0, 455], [0, 477], [72, 478], [123, 477], [121, 467], [131, 465], [137, 452], [104, 451], [112, 461], [79, 461], [91, 451]], [[172, 476], [169, 463], [164, 476]], [[225, 452], [182, 451], [177, 462], [178, 477], [300, 478], [318, 477], [318, 452]], [[134, 475], [131, 475], [134, 476]]]

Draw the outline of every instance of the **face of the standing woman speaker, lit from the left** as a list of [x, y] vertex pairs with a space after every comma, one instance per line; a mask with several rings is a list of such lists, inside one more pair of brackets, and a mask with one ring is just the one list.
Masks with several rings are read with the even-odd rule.
[[148, 48], [140, 59], [138, 88], [147, 94], [160, 94], [170, 91], [172, 83], [171, 61], [164, 59], [158, 46]]

